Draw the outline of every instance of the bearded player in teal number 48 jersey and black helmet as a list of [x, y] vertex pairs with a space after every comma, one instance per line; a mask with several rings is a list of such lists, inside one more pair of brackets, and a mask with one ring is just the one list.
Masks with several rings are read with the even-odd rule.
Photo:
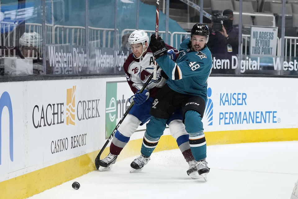
[[[159, 140], [166, 127], [166, 120], [173, 110], [182, 108], [183, 123], [189, 134], [189, 144], [196, 160], [198, 174], [206, 180], [209, 168], [206, 162], [206, 140], [201, 121], [207, 101], [207, 79], [211, 73], [212, 56], [206, 43], [209, 38], [207, 25], [195, 24], [191, 36], [180, 45], [180, 54], [174, 62], [167, 55], [165, 42], [155, 34], [149, 47], [156, 62], [169, 77], [152, 104], [150, 122], [142, 143], [141, 154], [131, 163], [132, 168], [143, 167], [143, 158], [150, 157], [155, 149], [152, 143]], [[147, 163], [146, 163], [147, 164]]]

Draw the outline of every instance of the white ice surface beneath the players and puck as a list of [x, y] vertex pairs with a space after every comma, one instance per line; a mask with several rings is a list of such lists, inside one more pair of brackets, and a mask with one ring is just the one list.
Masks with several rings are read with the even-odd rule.
[[[297, 153], [298, 141], [207, 146], [205, 182], [187, 176], [179, 149], [161, 151], [139, 173], [129, 173], [130, 157], [29, 198], [287, 199], [298, 179]], [[75, 181], [79, 190], [71, 187]]]

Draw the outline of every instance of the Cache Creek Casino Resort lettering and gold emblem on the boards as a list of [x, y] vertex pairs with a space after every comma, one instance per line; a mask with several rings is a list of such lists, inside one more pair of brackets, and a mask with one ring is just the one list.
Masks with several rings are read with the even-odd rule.
[[[72, 86], [72, 88], [68, 88], [65, 91], [66, 98], [64, 98], [64, 102], [36, 104], [34, 106], [32, 111], [32, 123], [34, 128], [50, 127], [62, 123], [65, 123], [67, 126], [75, 126], [75, 123], [81, 120], [100, 117], [99, 98], [79, 99], [75, 101], [76, 86]], [[66, 107], [64, 106], [65, 103]], [[87, 133], [84, 132], [69, 137], [61, 137], [56, 140], [51, 140], [50, 150], [52, 154], [55, 154], [68, 149], [85, 146], [87, 144], [86, 141]]]

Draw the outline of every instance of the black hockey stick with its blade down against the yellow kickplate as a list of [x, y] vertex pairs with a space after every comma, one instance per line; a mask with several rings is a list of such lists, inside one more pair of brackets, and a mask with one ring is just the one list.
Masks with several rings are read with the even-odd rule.
[[[158, 68], [159, 68], [159, 66], [156, 67], [156, 70], [158, 70]], [[145, 88], [150, 83], [152, 77], [153, 77], [153, 73], [151, 73], [151, 75], [149, 76], [148, 80], [146, 81], [146, 83], [144, 84], [144, 86], [142, 87], [142, 89], [139, 91], [139, 93], [142, 93], [143, 90], [145, 90]], [[114, 137], [114, 135], [115, 135], [116, 131], [118, 130], [120, 124], [123, 122], [124, 118], [127, 116], [127, 114], [129, 113], [129, 111], [133, 107], [133, 105], [134, 105], [134, 102], [132, 102], [130, 104], [129, 108], [126, 110], [126, 112], [122, 116], [121, 120], [119, 121], [119, 123], [114, 128], [114, 131], [111, 133], [110, 137], [107, 139], [106, 143], [103, 145], [102, 149], [99, 151], [98, 155], [96, 156], [96, 158], [95, 158], [95, 167], [96, 167], [96, 169], [99, 168], [100, 155], [102, 155], [102, 152], [105, 150], [106, 146], [109, 144], [109, 142], [111, 141], [111, 139]]]

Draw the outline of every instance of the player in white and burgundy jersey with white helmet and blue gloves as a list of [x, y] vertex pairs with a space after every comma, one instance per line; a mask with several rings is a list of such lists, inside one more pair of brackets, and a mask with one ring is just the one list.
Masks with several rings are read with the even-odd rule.
[[[104, 159], [100, 160], [100, 171], [111, 169], [121, 150], [128, 143], [129, 138], [136, 131], [138, 126], [143, 125], [151, 118], [149, 110], [152, 106], [153, 99], [155, 98], [157, 91], [165, 85], [165, 78], [161, 76], [161, 69], [159, 69], [157, 71], [156, 80], [152, 79], [147, 88], [142, 93], [138, 93], [153, 72], [154, 59], [151, 50], [148, 48], [149, 37], [144, 30], [133, 31], [133, 33], [130, 34], [128, 41], [128, 47], [133, 53], [129, 54], [124, 62], [123, 68], [127, 82], [133, 93], [135, 93], [131, 96], [129, 101], [134, 101], [135, 104], [115, 132], [110, 146], [110, 153]], [[173, 49], [173, 47], [170, 46], [168, 46], [168, 48]], [[167, 124], [171, 135], [176, 139], [179, 149], [189, 164], [187, 174], [192, 178], [198, 178], [199, 176], [197, 175], [195, 160], [189, 146], [189, 136], [185, 131], [185, 126], [182, 122], [181, 109], [175, 110], [167, 120]], [[143, 138], [143, 143], [144, 142], [148, 142], [145, 136]], [[157, 142], [158, 140], [155, 140], [153, 143], [154, 146], [152, 147], [155, 147]], [[150, 157], [143, 157], [142, 160], [147, 164]], [[143, 166], [132, 169], [131, 172], [140, 171], [142, 169]]]

